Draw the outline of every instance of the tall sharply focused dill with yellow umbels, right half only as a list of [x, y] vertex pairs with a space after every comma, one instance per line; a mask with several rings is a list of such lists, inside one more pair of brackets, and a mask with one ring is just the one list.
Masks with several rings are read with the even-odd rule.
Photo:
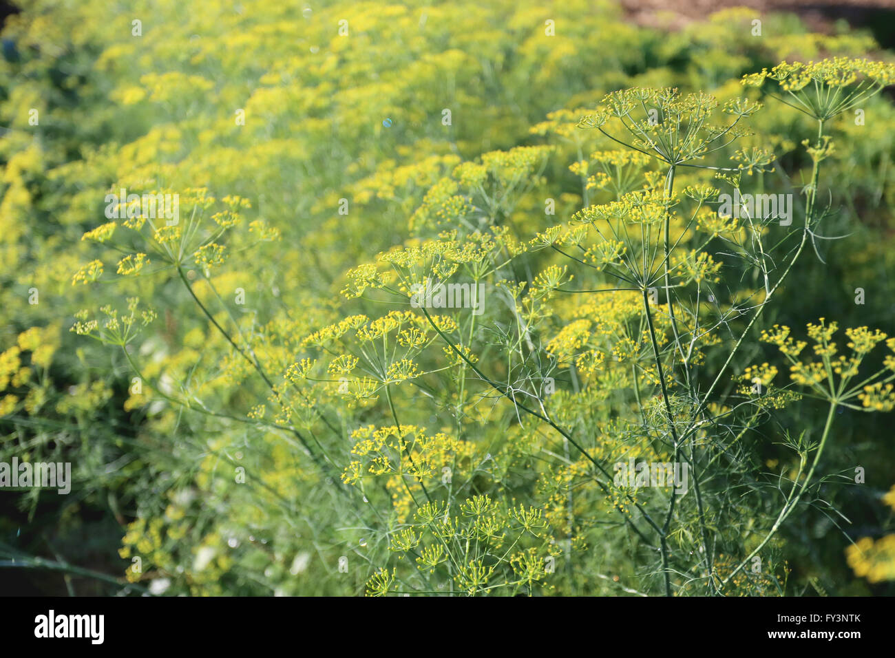
[[[744, 82], [753, 85], [763, 81], [765, 75], [766, 72], [747, 76]], [[435, 226], [447, 225], [449, 230], [419, 247], [381, 254], [378, 266], [354, 269], [349, 273], [350, 283], [345, 292], [357, 296], [375, 289], [402, 298], [413, 285], [419, 285], [421, 278], [429, 276], [444, 282], [458, 269], [476, 283], [492, 276], [493, 285], [506, 290], [512, 299], [513, 321], [497, 320], [488, 331], [482, 328], [476, 334], [472, 317], [466, 327], [454, 320], [448, 320], [445, 326], [446, 320], [433, 317], [424, 308], [422, 315], [428, 326], [418, 316], [405, 317], [405, 321], [416, 320], [422, 325], [415, 330], [434, 332], [440, 343], [447, 346], [447, 356], [455, 360], [454, 367], [459, 370], [457, 379], [461, 383], [456, 394], [450, 397], [456, 399], [456, 404], [431, 392], [430, 396], [441, 397], [442, 404], [453, 407], [456, 432], [463, 432], [464, 416], [468, 414], [465, 407], [481, 404], [473, 401], [474, 396], [464, 397], [469, 395], [465, 383], [468, 378], [481, 387], [477, 396], [488, 397], [490, 389], [490, 395], [507, 398], [520, 425], [531, 423], [534, 432], [537, 432], [534, 428], [546, 426], [548, 432], [556, 433], [563, 443], [567, 468], [572, 470], [559, 469], [563, 472], [558, 476], [559, 482], [564, 486], [554, 492], [554, 496], [559, 494], [558, 500], [548, 500], [567, 497], [571, 501], [573, 497], [582, 497], [588, 487], [604, 496], [609, 501], [607, 507], [620, 513], [623, 527], [635, 537], [632, 551], [653, 553], [658, 564], [652, 568], [652, 574], [661, 583], [664, 594], [782, 593], [785, 568], [773, 562], [774, 553], [767, 548], [805, 492], [816, 485], [814, 474], [830, 438], [836, 409], [850, 406], [865, 411], [891, 410], [893, 398], [889, 382], [895, 378], [892, 357], [887, 357], [888, 365], [878, 372], [854, 383], [865, 355], [886, 336], [878, 330], [848, 329], [851, 355], [840, 356], [833, 362], [831, 356], [837, 348], [831, 336], [836, 327], [823, 328], [822, 320], [822, 329], [809, 324], [808, 333], [814, 338], [814, 352], [822, 356], [823, 363], [796, 362], [793, 359], [799, 350], [784, 345], [780, 333], [764, 335], [770, 342], [784, 345], [783, 354], [792, 361], [792, 384], [774, 385], [777, 369], [767, 363], [747, 367], [741, 375], [731, 372], [730, 366], [750, 330], [762, 318], [764, 309], [796, 265], [805, 244], [823, 237], [817, 231], [827, 211], [818, 207], [817, 189], [821, 163], [831, 155], [831, 137], [823, 131], [824, 122], [854, 107], [865, 95], [880, 90], [891, 82], [891, 76], [891, 65], [844, 58], [808, 65], [784, 63], [771, 73], [771, 79], [780, 81], [781, 87], [818, 124], [816, 141], [805, 142], [813, 171], [803, 189], [803, 225], [784, 231], [784, 235], [774, 235], [780, 230], [773, 226], [778, 217], [752, 217], [747, 211], [744, 217], [719, 217], [712, 210], [718, 190], [698, 178], [698, 170], [708, 171], [716, 180], [740, 193], [744, 175], [762, 172], [771, 164], [774, 159], [771, 152], [761, 147], [729, 149], [734, 141], [748, 136], [741, 121], [757, 112], [761, 108], [759, 104], [745, 98], [732, 99], [722, 108], [723, 114], [729, 115], [729, 121], [716, 124], [712, 120], [717, 103], [707, 94], [682, 96], [677, 90], [635, 88], [609, 94], [604, 98], [603, 107], [595, 114], [586, 115], [579, 124], [579, 127], [596, 128], [628, 151], [594, 153], [591, 157], [596, 165], [594, 175], [590, 175], [591, 163], [586, 160], [570, 167], [582, 178], [585, 200], [592, 188], [609, 192], [615, 196], [614, 200], [589, 205], [575, 213], [567, 225], [552, 226], [527, 244], [519, 242], [506, 220], [507, 214], [494, 200], [501, 204], [507, 202], [507, 187], [511, 187], [507, 180], [514, 183], [525, 177], [536, 180], [533, 151], [515, 150], [506, 156], [490, 154], [482, 158], [481, 164], [457, 167], [452, 179], [433, 188], [422, 209], [414, 214], [414, 218], [422, 214]], [[809, 84], [813, 87], [804, 92]], [[610, 132], [611, 127], [621, 128], [627, 137]], [[627, 155], [630, 150], [640, 156]], [[703, 164], [705, 158], [724, 150], [733, 150], [730, 159], [736, 166]], [[642, 157], [657, 160], [660, 166], [658, 171], [643, 172], [643, 184], [636, 177], [626, 175], [628, 169], [646, 166], [647, 160]], [[615, 169], [608, 171], [608, 163]], [[691, 173], [688, 169], [697, 171]], [[682, 192], [675, 189], [679, 178], [689, 183]], [[548, 249], [566, 257], [571, 266], [550, 264], [531, 278], [518, 276], [522, 267], [531, 267], [531, 261], [517, 269], [513, 267], [514, 261]], [[711, 249], [719, 250], [716, 254], [724, 253], [726, 260], [716, 261]], [[568, 272], [570, 267], [576, 276]], [[728, 275], [725, 278], [720, 276], [722, 267]], [[763, 286], [750, 290], [730, 280], [737, 270], [750, 269], [758, 271]], [[588, 270], [592, 270], [590, 276]], [[583, 287], [565, 286], [565, 280], [572, 278], [582, 282], [578, 285]], [[591, 282], [594, 286], [615, 282], [617, 286], [588, 289], [585, 284]], [[562, 317], [555, 307], [550, 309], [556, 294], [611, 295], [612, 308], [601, 308], [599, 303], [581, 303], [578, 312], [572, 313], [577, 320], [551, 332], [549, 319]], [[399, 315], [400, 312], [392, 312], [386, 316], [395, 319], [396, 331], [401, 327]], [[337, 330], [330, 338], [341, 338], [344, 330]], [[729, 338], [722, 338], [722, 332], [728, 333]], [[555, 337], [547, 339], [550, 333]], [[538, 346], [535, 341], [543, 343]], [[429, 336], [421, 337], [414, 345], [419, 351], [413, 349], [405, 355], [421, 360], [422, 347], [429, 342]], [[436, 551], [439, 559], [446, 562], [450, 558], [453, 567], [458, 569], [455, 578], [462, 579], [466, 585], [461, 589], [468, 589], [470, 594], [488, 591], [496, 586], [490, 584], [493, 583], [490, 578], [507, 561], [507, 554], [490, 551], [487, 541], [490, 533], [456, 526], [456, 520], [449, 514], [452, 507], [449, 491], [447, 501], [442, 503], [444, 511], [432, 507], [432, 494], [425, 481], [433, 471], [421, 471], [413, 461], [410, 447], [415, 441], [405, 443], [402, 439], [402, 427], [389, 391], [392, 382], [415, 380], [435, 374], [441, 368], [419, 371], [414, 366], [410, 369], [405, 359], [388, 366], [385, 347], [384, 342], [382, 354], [376, 356], [363, 349], [356, 352], [348, 349], [354, 355], [354, 363], [371, 367], [367, 372], [384, 387], [396, 421], [387, 430], [395, 432], [392, 436], [396, 440], [389, 443], [382, 436], [379, 443], [385, 441], [399, 459], [407, 452], [412, 482], [419, 485], [425, 496], [423, 522], [411, 527], [417, 527], [422, 535], [429, 531], [437, 540], [426, 551]], [[706, 373], [706, 353], [712, 348], [722, 350], [726, 356], [720, 367]], [[490, 356], [490, 368], [482, 364], [482, 355]], [[390, 379], [388, 372], [395, 363], [401, 363], [405, 372], [398, 379]], [[552, 369], [567, 370], [573, 397], [546, 396], [535, 383], [548, 379], [554, 372]], [[735, 379], [745, 380], [746, 387], [719, 395], [720, 385]], [[805, 386], [814, 387], [814, 391], [797, 392]], [[594, 414], [587, 408], [594, 402], [591, 389], [606, 388], [628, 391], [635, 399], [633, 413], [619, 412], [611, 421], [609, 414], [605, 414], [602, 422], [593, 423], [593, 415], [599, 417], [599, 413]], [[740, 451], [737, 443], [742, 444], [750, 432], [761, 428], [769, 410], [795, 404], [801, 397], [812, 395], [829, 405], [820, 438], [811, 440], [805, 432], [798, 437], [787, 435], [786, 443], [797, 455], [798, 466], [795, 474], [779, 476], [780, 483], [789, 483], [780, 511], [768, 517], [769, 521], [772, 519], [769, 527], [744, 529], [736, 517], [745, 516], [746, 506], [767, 508], [775, 501], [773, 496], [761, 491], [762, 475], [755, 472], [751, 456]], [[863, 406], [857, 406], [857, 400]], [[522, 420], [523, 415], [528, 416], [527, 421]], [[634, 450], [639, 456], [651, 456], [654, 461], [686, 462], [693, 478], [693, 495], [678, 499], [673, 488], [667, 495], [664, 491], [644, 495], [643, 491], [614, 487], [609, 478], [609, 464], [594, 453], [605, 451], [621, 458]], [[353, 452], [366, 455], [367, 449]], [[728, 463], [722, 465], [721, 458]], [[346, 481], [350, 483], [358, 483], [365, 476], [375, 478], [388, 474], [393, 487], [406, 489], [410, 499], [406, 502], [411, 506], [418, 504], [413, 486], [405, 477], [404, 466], [374, 463], [368, 468], [364, 462], [354, 460], [348, 471]], [[740, 489], [745, 493], [737, 491]], [[501, 492], [507, 496], [507, 491]], [[393, 492], [392, 495], [401, 494]], [[740, 500], [735, 501], [734, 495]], [[750, 500], [753, 497], [758, 501]], [[462, 504], [461, 509], [464, 509]], [[432, 524], [442, 514], [443, 520], [433, 530]], [[575, 550], [573, 545], [584, 534], [581, 526], [575, 527], [575, 523], [582, 523], [575, 518], [577, 514], [574, 502], [570, 502], [550, 519], [555, 534], [550, 539], [553, 548], [548, 548], [546, 560], [551, 559], [552, 550], [565, 553], [567, 560], [574, 561], [568, 552]], [[403, 515], [398, 516], [399, 522], [404, 520]], [[513, 524], [507, 527], [518, 530]], [[546, 532], [550, 534], [549, 530]], [[393, 549], [415, 554], [413, 549], [420, 545], [420, 539], [415, 531], [411, 533], [407, 542], [393, 545]], [[519, 534], [516, 542], [523, 535], [524, 532]], [[463, 560], [454, 560], [449, 549], [447, 558], [442, 557], [442, 544], [447, 548], [450, 540], [457, 539], [459, 544], [455, 549], [462, 548], [465, 539]], [[470, 543], [474, 543], [474, 549], [469, 568], [476, 569], [473, 586], [469, 586], [471, 581], [464, 561], [471, 554]], [[480, 552], [482, 543], [485, 555]], [[731, 546], [746, 554], [731, 560], [722, 552], [729, 551], [725, 547]], [[766, 551], [764, 567], [761, 566], [763, 551]], [[433, 560], [417, 557], [418, 562], [429, 568]], [[757, 568], [750, 568], [746, 576], [749, 565]], [[450, 566], [448, 562], [449, 572]], [[533, 571], [528, 572], [528, 580], [522, 578], [522, 581], [530, 586], [533, 576]], [[374, 591], [378, 594], [391, 591], [392, 577], [381, 575], [375, 580]], [[504, 578], [507, 585], [520, 584], [513, 577]], [[543, 574], [536, 579], [549, 582]]]

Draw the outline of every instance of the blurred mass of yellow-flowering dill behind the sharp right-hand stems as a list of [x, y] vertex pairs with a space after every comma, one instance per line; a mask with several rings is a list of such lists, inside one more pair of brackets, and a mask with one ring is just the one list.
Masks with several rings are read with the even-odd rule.
[[[68, 496], [0, 491], [0, 591], [662, 594], [657, 551], [616, 516], [631, 500], [603, 491], [591, 462], [550, 427], [523, 422], [507, 395], [490, 387], [483, 397], [473, 358], [494, 372], [500, 349], [531, 341], [518, 370], [494, 372], [501, 384], [555, 380], [553, 421], [579, 424], [588, 454], [609, 469], [640, 446], [609, 409], [643, 408], [660, 423], [667, 409], [635, 406], [628, 385], [601, 380], [602, 352], [585, 355], [582, 337], [614, 336], [609, 358], [634, 363], [612, 332], [638, 323], [643, 302], [589, 302], [575, 315], [581, 300], [552, 292], [569, 263], [545, 232], [610, 194], [664, 181], [650, 177], [654, 163], [579, 119], [633, 87], [702, 91], [722, 106], [760, 98], [739, 159], [731, 148], [714, 163], [737, 167], [767, 149], [773, 158], [744, 177], [793, 193], [799, 206], [814, 165], [802, 142], [814, 145], [817, 126], [740, 79], [783, 60], [891, 59], [867, 30], [828, 28], [746, 8], [642, 26], [617, 4], [578, 1], [258, 0], [196, 12], [166, 1], [125, 10], [40, 0], [7, 16], [0, 461], [70, 461], [74, 483]], [[748, 366], [782, 367], [758, 339], [773, 324], [825, 317], [895, 335], [893, 114], [884, 90], [826, 122], [836, 151], [815, 186], [825, 209], [818, 235], [848, 236], [806, 247], [740, 347], [723, 396], [738, 394]], [[685, 177], [678, 189], [711, 182]], [[122, 187], [179, 193], [181, 224], [97, 233], [107, 193]], [[602, 269], [621, 257], [601, 250], [578, 257]], [[401, 284], [397, 274], [377, 278], [386, 276], [370, 267], [379, 252], [405, 286], [456, 271], [497, 286], [510, 268], [509, 301], [482, 318], [389, 317], [406, 302], [342, 294]], [[676, 266], [704, 274], [706, 263]], [[748, 305], [779, 266], [722, 269], [725, 303]], [[605, 280], [593, 276], [588, 283]], [[101, 309], [127, 317], [129, 298], [158, 317], [139, 334], [100, 336], [110, 317]], [[518, 330], [550, 323], [553, 334]], [[443, 352], [445, 338], [456, 349]], [[725, 347], [706, 350], [701, 376], [720, 368]], [[435, 348], [440, 361], [419, 358]], [[639, 381], [659, 384], [655, 372]], [[536, 406], [536, 397], [520, 390], [516, 403]], [[683, 397], [669, 402], [689, 413]], [[836, 409], [814, 504], [763, 549], [760, 577], [732, 574], [779, 508], [778, 477], [797, 473], [807, 447], [794, 435], [823, 432], [820, 408], [763, 411], [736, 455], [748, 477], [715, 483], [731, 491], [725, 518], [739, 518], [717, 547], [717, 574], [736, 585], [726, 594], [892, 594], [883, 539], [891, 432], [882, 414], [846, 406]], [[354, 462], [375, 472], [362, 486]], [[763, 505], [735, 503], [737, 487]], [[682, 523], [681, 534], [695, 527]], [[691, 576], [676, 591], [690, 593]]]

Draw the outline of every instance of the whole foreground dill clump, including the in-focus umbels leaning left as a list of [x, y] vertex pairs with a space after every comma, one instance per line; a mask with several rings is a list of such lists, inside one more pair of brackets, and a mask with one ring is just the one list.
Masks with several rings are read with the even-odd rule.
[[[847, 329], [849, 355], [838, 355], [836, 323], [820, 320], [806, 332], [820, 360], [805, 361], [805, 341], [766, 327], [763, 315], [806, 245], [823, 238], [825, 125], [892, 76], [891, 65], [835, 59], [744, 79], [777, 81], [817, 122], [792, 227], [717, 212], [716, 185], [746, 193], [744, 181], [775, 159], [751, 141], [746, 124], [762, 107], [746, 98], [719, 107], [705, 93], [632, 88], [584, 116], [550, 115], [532, 132], [573, 145], [568, 170], [584, 207], [535, 235], [514, 218], [549, 190], [558, 143], [447, 158], [446, 175], [408, 213], [413, 237], [345, 274], [342, 294], [362, 306], [312, 330], [291, 316], [247, 325], [226, 311], [211, 272], [230, 252], [280, 237], [261, 220], [239, 228], [244, 199], [185, 190], [182, 226], [138, 216], [84, 235], [124, 254], [119, 275], [167, 271], [183, 286], [230, 348], [226, 377], [257, 376], [267, 389], [244, 418], [203, 401], [211, 381], [187, 376], [175, 390], [139, 363], [131, 344], [155, 320], [139, 300], [101, 319], [82, 312], [72, 330], [118, 346], [168, 402], [242, 423], [272, 441], [271, 454], [290, 452], [294, 466], [274, 468], [263, 452], [210, 441], [199, 480], [227, 507], [275, 509], [265, 514], [286, 534], [299, 518], [311, 532], [320, 525], [290, 480], [307, 483], [316, 505], [336, 510], [331, 523], [357, 537], [350, 560], [361, 556], [373, 572], [367, 594], [783, 594], [777, 534], [800, 503], [820, 504], [836, 410], [895, 406], [895, 356], [862, 370], [878, 344], [895, 352], [895, 338]], [[72, 281], [101, 274], [91, 261]], [[410, 304], [417, 286], [459, 281], [486, 286], [481, 317]], [[759, 329], [788, 361], [790, 381], [780, 383], [775, 365], [738, 358]], [[827, 406], [823, 430], [783, 432], [794, 466], [775, 485], [754, 441], [765, 440], [775, 410], [807, 398]], [[629, 458], [686, 464], [691, 490], [617, 485], [613, 464]], [[202, 556], [193, 585], [224, 592], [220, 578], [238, 567], [220, 530], [190, 527], [198, 504], [172, 499], [164, 517], [138, 519], [122, 557], [171, 572], [172, 541], [193, 533]]]

